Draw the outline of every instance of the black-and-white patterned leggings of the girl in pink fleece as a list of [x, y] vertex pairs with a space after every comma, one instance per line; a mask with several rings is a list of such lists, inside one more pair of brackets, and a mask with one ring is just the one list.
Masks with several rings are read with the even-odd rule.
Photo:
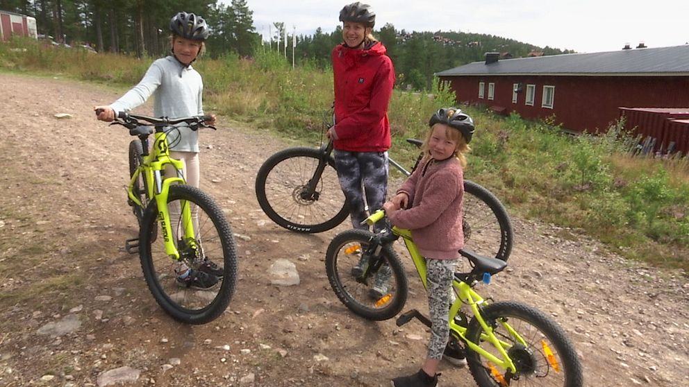
[[449, 338], [449, 300], [456, 261], [456, 259], [426, 259], [428, 267], [426, 282], [429, 286], [429, 311], [431, 312], [429, 359], [442, 359], [442, 352]]

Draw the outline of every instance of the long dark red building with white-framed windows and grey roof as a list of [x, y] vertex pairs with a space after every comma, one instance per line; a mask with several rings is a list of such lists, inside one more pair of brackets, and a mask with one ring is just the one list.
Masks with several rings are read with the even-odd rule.
[[620, 107], [689, 107], [689, 44], [506, 60], [486, 53], [485, 62], [436, 75], [457, 101], [554, 116], [574, 132], [606, 130]]

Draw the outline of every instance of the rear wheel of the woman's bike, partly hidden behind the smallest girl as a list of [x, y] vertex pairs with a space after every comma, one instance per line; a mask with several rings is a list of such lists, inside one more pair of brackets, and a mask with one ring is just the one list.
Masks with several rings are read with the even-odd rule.
[[463, 231], [465, 248], [507, 261], [514, 234], [507, 210], [488, 189], [464, 180]]

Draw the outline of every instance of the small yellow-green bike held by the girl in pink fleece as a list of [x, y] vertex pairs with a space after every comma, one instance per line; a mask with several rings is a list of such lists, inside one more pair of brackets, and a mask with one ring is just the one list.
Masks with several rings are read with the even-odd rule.
[[[386, 220], [385, 212], [380, 210], [367, 218], [367, 223], [372, 225]], [[326, 272], [330, 284], [340, 301], [358, 316], [386, 320], [397, 316], [404, 308], [407, 277], [392, 248], [392, 243], [400, 236], [427, 289], [426, 259], [414, 244], [409, 230], [392, 227], [378, 234], [347, 230], [335, 236], [328, 246]], [[456, 300], [449, 310], [450, 340], [463, 344], [476, 384], [481, 387], [582, 386], [579, 357], [556, 322], [521, 302], [489, 302], [474, 289], [481, 282], [488, 284], [492, 275], [506, 268], [506, 261], [465, 250], [460, 250], [460, 254], [470, 262], [472, 270], [454, 275], [452, 286]], [[367, 258], [368, 265], [363, 274], [355, 277], [351, 268], [358, 264], [362, 255]], [[388, 292], [372, 298], [369, 290], [383, 266], [389, 266], [392, 271]], [[415, 309], [399, 316], [397, 325], [404, 325], [413, 318], [431, 326], [431, 321]]]

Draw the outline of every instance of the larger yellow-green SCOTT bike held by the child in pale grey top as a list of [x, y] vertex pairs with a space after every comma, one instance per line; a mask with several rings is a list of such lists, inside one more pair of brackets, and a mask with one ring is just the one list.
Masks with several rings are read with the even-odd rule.
[[[235, 241], [222, 209], [207, 193], [185, 184], [184, 163], [170, 157], [170, 133], [180, 126], [192, 130], [209, 127], [205, 122], [210, 119], [120, 112], [110, 124], [122, 125], [138, 137], [129, 144], [127, 196], [140, 230], [138, 238], [126, 241], [126, 250], [139, 253], [144, 278], [160, 307], [189, 324], [204, 324], [220, 316], [232, 299], [237, 280]], [[151, 135], [154, 140], [149, 150]], [[176, 177], [165, 177], [166, 166], [176, 170]], [[178, 279], [182, 270], [198, 270], [210, 262], [215, 264], [219, 280], [208, 289], [194, 289]]]

